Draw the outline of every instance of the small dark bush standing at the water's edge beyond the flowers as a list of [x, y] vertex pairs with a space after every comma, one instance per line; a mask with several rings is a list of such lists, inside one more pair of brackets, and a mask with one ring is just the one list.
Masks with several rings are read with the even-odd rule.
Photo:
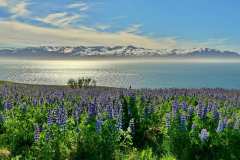
[[71, 88], [95, 87], [96, 81], [91, 78], [78, 78], [78, 80], [69, 79], [67, 85]]

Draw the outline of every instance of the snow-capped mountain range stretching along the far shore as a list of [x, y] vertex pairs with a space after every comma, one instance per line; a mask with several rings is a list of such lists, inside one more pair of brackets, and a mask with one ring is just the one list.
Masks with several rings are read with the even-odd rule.
[[135, 46], [79, 46], [79, 47], [27, 47], [2, 49], [0, 55], [8, 56], [240, 56], [237, 52], [210, 48], [146, 49]]

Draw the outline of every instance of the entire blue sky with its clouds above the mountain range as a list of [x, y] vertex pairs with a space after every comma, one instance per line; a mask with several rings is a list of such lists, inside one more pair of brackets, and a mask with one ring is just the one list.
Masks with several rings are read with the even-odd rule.
[[134, 45], [240, 52], [238, 0], [0, 0], [0, 48]]

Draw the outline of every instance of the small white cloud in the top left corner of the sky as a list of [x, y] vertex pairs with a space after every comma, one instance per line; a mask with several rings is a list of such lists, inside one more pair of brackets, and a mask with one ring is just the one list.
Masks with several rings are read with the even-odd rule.
[[29, 14], [29, 10], [27, 9], [29, 3], [25, 0], [20, 2], [11, 1], [11, 0], [0, 0], [0, 6], [6, 7], [9, 13], [12, 14], [12, 18], [27, 16]]

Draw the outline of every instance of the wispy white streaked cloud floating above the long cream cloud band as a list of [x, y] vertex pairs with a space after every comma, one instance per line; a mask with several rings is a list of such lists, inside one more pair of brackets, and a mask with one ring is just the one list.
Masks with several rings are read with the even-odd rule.
[[70, 15], [67, 12], [59, 12], [59, 13], [52, 13], [49, 14], [47, 17], [44, 18], [36, 18], [36, 20], [51, 24], [54, 26], [64, 27], [68, 26], [73, 23], [75, 20], [80, 19], [80, 15]]

